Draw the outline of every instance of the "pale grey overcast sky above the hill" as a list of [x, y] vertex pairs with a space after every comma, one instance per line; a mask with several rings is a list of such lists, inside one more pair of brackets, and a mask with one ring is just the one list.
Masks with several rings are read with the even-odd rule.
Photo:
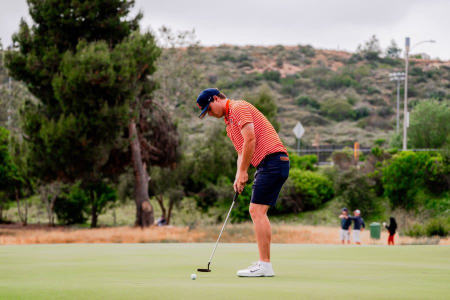
[[[11, 43], [20, 17], [30, 22], [26, 0], [0, 0], [0, 37]], [[423, 43], [411, 52], [450, 59], [450, 0], [136, 0], [142, 28], [195, 29], [202, 45], [310, 44], [354, 51], [372, 34], [385, 49], [391, 39]]]

